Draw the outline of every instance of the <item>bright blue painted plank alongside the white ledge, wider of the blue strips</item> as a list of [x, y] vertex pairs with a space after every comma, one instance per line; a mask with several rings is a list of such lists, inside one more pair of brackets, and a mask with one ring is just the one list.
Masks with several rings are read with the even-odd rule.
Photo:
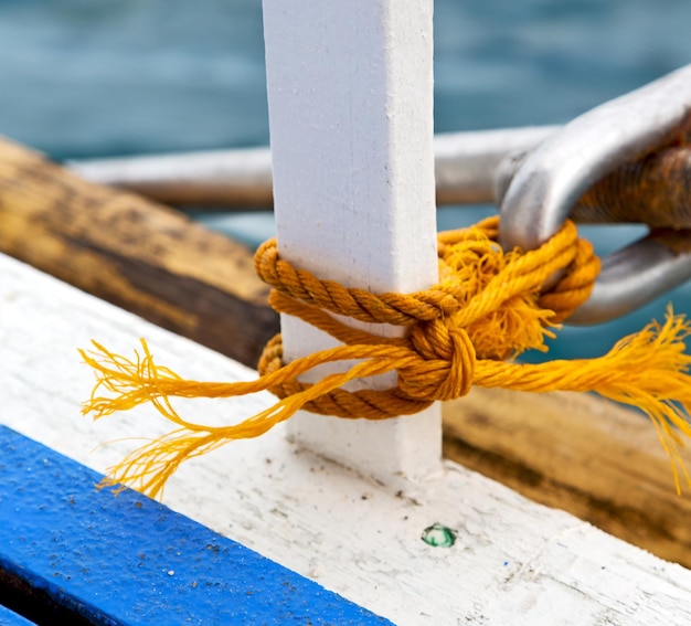
[[0, 426], [0, 569], [95, 624], [391, 624]]

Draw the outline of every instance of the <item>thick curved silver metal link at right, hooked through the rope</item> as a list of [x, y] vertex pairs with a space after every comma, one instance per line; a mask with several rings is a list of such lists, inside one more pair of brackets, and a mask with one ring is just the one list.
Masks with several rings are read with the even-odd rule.
[[[626, 162], [680, 142], [690, 124], [691, 65], [577, 117], [511, 177], [501, 201], [502, 245], [540, 246], [588, 188]], [[568, 322], [624, 315], [689, 278], [691, 244], [668, 245], [666, 236], [651, 235], [604, 259], [593, 295]]]

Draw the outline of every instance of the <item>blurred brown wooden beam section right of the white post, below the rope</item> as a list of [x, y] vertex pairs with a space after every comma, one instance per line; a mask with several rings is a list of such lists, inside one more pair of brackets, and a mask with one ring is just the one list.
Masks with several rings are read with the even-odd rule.
[[691, 567], [691, 487], [677, 496], [642, 414], [588, 394], [474, 389], [444, 406], [444, 437], [456, 463]]

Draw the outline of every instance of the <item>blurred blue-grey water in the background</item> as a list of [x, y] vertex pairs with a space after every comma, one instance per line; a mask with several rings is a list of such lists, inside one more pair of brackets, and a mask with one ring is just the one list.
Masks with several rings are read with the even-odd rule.
[[[437, 0], [436, 131], [563, 124], [691, 63], [690, 23], [688, 0]], [[56, 160], [268, 145], [261, 0], [0, 0], [0, 134]], [[202, 219], [249, 243], [273, 227]], [[583, 232], [607, 253], [645, 230]], [[691, 287], [566, 328], [550, 357], [600, 354], [670, 300], [690, 312]]]

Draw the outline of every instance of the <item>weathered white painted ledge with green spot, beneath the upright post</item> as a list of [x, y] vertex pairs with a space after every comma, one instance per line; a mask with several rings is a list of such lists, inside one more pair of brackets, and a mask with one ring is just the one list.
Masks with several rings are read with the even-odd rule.
[[[91, 338], [129, 352], [146, 337], [160, 363], [204, 380], [256, 375], [17, 261], [0, 256], [0, 423], [97, 470], [136, 445], [123, 437], [169, 426], [147, 407], [81, 415], [93, 375], [76, 348]], [[227, 423], [270, 402], [176, 404]], [[400, 626], [691, 624], [689, 570], [454, 464], [408, 487], [396, 496], [299, 452], [277, 427], [183, 465], [166, 503]], [[421, 541], [434, 522], [457, 531], [453, 548]]]

